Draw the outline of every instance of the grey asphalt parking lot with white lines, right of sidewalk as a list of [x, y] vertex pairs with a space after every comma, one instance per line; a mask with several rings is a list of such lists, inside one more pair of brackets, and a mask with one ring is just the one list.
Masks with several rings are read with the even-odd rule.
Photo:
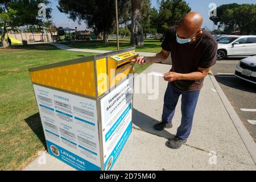
[[233, 75], [241, 59], [243, 58], [237, 57], [217, 61], [212, 73], [256, 142], [256, 85]]

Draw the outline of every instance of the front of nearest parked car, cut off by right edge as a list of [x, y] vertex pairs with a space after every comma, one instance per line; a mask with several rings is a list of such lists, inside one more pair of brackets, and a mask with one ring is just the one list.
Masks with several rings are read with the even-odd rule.
[[235, 76], [256, 84], [256, 56], [242, 59], [237, 65]]

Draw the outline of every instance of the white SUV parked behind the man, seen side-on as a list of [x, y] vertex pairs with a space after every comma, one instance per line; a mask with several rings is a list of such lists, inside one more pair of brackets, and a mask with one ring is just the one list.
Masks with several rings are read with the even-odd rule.
[[218, 42], [217, 60], [229, 56], [256, 55], [256, 35], [234, 35]]

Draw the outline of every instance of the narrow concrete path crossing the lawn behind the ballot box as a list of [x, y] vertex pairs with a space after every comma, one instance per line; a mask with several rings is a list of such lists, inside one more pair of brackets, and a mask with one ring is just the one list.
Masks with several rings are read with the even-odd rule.
[[[63, 44], [57, 44], [57, 43], [49, 43], [53, 46], [56, 46], [59, 49], [67, 50], [67, 51], [76, 51], [76, 52], [94, 52], [94, 53], [108, 53], [112, 51], [102, 51], [102, 50], [96, 50], [96, 49], [80, 49], [80, 48], [73, 48], [69, 46], [65, 46]], [[153, 56], [155, 53], [151, 52], [138, 52], [141, 56]]]

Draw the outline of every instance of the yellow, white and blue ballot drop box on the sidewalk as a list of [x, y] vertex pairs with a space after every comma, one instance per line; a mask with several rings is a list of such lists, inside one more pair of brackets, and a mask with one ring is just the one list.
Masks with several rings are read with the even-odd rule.
[[134, 48], [29, 69], [50, 155], [108, 171], [131, 134]]

